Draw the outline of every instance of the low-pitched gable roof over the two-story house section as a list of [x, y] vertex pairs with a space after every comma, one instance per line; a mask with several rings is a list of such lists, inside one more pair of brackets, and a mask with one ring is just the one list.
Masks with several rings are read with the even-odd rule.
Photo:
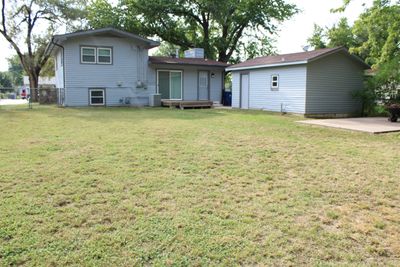
[[136, 34], [133, 34], [130, 32], [121, 31], [121, 30], [118, 30], [118, 29], [115, 29], [112, 27], [54, 35], [52, 42], [61, 44], [62, 42], [66, 41], [70, 38], [81, 37], [81, 36], [115, 36], [115, 37], [128, 38], [128, 39], [133, 39], [135, 41], [139, 41], [139, 42], [143, 43], [146, 48], [153, 48], [153, 47], [157, 47], [160, 45], [159, 42], [141, 37], [139, 35], [136, 35]]

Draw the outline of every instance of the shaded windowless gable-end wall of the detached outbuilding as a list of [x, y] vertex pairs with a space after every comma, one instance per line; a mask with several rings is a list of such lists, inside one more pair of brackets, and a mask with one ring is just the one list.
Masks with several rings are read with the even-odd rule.
[[363, 89], [363, 66], [340, 52], [307, 66], [306, 114], [358, 114], [361, 103], [352, 96]]

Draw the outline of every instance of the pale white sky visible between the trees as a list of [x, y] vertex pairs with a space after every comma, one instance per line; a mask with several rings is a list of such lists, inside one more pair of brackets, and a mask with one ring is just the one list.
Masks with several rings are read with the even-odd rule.
[[[301, 9], [301, 12], [280, 26], [277, 37], [277, 49], [280, 53], [292, 53], [302, 50], [307, 44], [307, 38], [313, 32], [313, 25], [332, 26], [345, 16], [353, 23], [364, 10], [363, 3], [370, 6], [373, 0], [355, 0], [345, 13], [330, 13], [332, 8], [341, 6], [343, 0], [287, 0]], [[7, 70], [6, 58], [14, 54], [3, 36], [0, 36], [0, 71]]]

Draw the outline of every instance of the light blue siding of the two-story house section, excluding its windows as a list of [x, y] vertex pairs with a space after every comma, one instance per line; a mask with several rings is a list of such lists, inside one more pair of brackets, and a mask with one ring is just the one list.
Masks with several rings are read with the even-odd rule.
[[[85, 45], [112, 47], [112, 64], [81, 64], [80, 47]], [[136, 88], [137, 81], [147, 83], [147, 49], [125, 38], [97, 36], [68, 40], [64, 51], [66, 106], [87, 106], [89, 88], [105, 88], [108, 106], [121, 105], [124, 97], [148, 104], [148, 91]]]

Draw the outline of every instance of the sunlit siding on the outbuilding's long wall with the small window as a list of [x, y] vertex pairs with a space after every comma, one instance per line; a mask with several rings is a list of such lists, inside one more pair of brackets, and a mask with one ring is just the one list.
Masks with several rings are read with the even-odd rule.
[[[248, 73], [250, 109], [305, 113], [305, 65], [257, 69]], [[234, 71], [232, 76], [232, 106], [235, 108], [240, 107], [240, 74]], [[278, 90], [271, 90], [272, 75], [279, 75]]]

